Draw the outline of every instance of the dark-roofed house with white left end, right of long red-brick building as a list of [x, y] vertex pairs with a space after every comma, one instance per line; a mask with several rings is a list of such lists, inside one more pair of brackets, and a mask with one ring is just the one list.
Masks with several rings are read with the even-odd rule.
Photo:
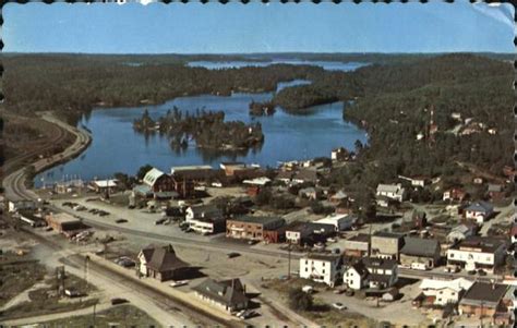
[[336, 233], [333, 224], [316, 222], [292, 222], [286, 227], [286, 242], [303, 245], [326, 241]]

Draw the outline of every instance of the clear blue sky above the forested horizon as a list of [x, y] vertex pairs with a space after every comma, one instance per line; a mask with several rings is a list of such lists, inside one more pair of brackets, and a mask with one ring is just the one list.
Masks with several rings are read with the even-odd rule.
[[[147, 0], [148, 1], [148, 0]], [[5, 52], [514, 52], [514, 8], [446, 3], [8, 3]]]

